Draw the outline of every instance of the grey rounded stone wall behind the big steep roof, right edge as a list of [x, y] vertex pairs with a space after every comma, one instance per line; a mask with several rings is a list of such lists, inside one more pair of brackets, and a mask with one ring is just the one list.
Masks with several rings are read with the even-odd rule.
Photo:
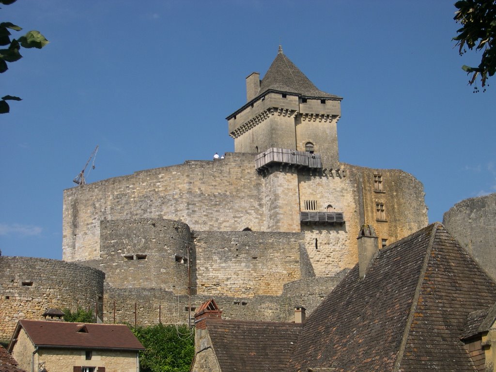
[[496, 193], [456, 203], [444, 213], [442, 222], [496, 280]]

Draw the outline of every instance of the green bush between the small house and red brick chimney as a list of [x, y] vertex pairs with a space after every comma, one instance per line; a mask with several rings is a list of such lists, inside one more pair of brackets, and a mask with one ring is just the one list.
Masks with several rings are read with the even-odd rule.
[[187, 325], [157, 324], [132, 329], [145, 347], [140, 372], [189, 372], [194, 356], [194, 334]]

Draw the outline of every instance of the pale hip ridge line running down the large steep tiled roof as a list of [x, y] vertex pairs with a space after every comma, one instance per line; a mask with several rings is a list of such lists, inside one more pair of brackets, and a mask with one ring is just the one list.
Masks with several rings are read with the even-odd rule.
[[[405, 329], [403, 330], [403, 337], [401, 338], [401, 343], [400, 343], [400, 346], [398, 348], [398, 354], [396, 355], [396, 361], [394, 363], [393, 372], [399, 372], [400, 367], [401, 367], [401, 361], [403, 360], [403, 354], [405, 352], [408, 336], [410, 335], [410, 328], [412, 327], [413, 318], [415, 316], [415, 310], [417, 309], [417, 305], [419, 302], [420, 292], [422, 290], [422, 284], [424, 282], [424, 277], [426, 275], [427, 267], [429, 265], [429, 259], [431, 258], [431, 251], [433, 249], [434, 239], [435, 239], [435, 235], [437, 233], [437, 228], [439, 227], [439, 225], [442, 226], [442, 224], [440, 222], [434, 222], [433, 224], [430, 225], [430, 226], [432, 226], [431, 237], [429, 238], [429, 243], [428, 243], [427, 248], [426, 248], [426, 252], [425, 252], [425, 256], [424, 256], [424, 262], [422, 263], [422, 270], [420, 270], [420, 273], [419, 273], [419, 279], [417, 282], [417, 287], [415, 287], [415, 293], [414, 293], [414, 296], [412, 299], [412, 306], [410, 307], [410, 312], [409, 312], [408, 318], [406, 320]], [[442, 227], [444, 227], [444, 226], [442, 226]]]

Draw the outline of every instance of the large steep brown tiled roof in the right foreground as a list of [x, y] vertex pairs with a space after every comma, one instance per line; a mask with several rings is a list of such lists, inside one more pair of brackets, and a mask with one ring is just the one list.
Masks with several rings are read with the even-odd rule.
[[439, 223], [355, 266], [312, 313], [289, 370], [473, 371], [460, 342], [470, 312], [496, 283]]

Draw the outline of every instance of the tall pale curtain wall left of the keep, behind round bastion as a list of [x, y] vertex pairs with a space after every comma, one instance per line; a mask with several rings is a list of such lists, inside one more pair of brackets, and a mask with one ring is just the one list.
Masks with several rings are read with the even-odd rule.
[[66, 189], [63, 259], [98, 259], [100, 221], [138, 218], [180, 220], [196, 230], [264, 230], [263, 180], [253, 155], [228, 153]]

